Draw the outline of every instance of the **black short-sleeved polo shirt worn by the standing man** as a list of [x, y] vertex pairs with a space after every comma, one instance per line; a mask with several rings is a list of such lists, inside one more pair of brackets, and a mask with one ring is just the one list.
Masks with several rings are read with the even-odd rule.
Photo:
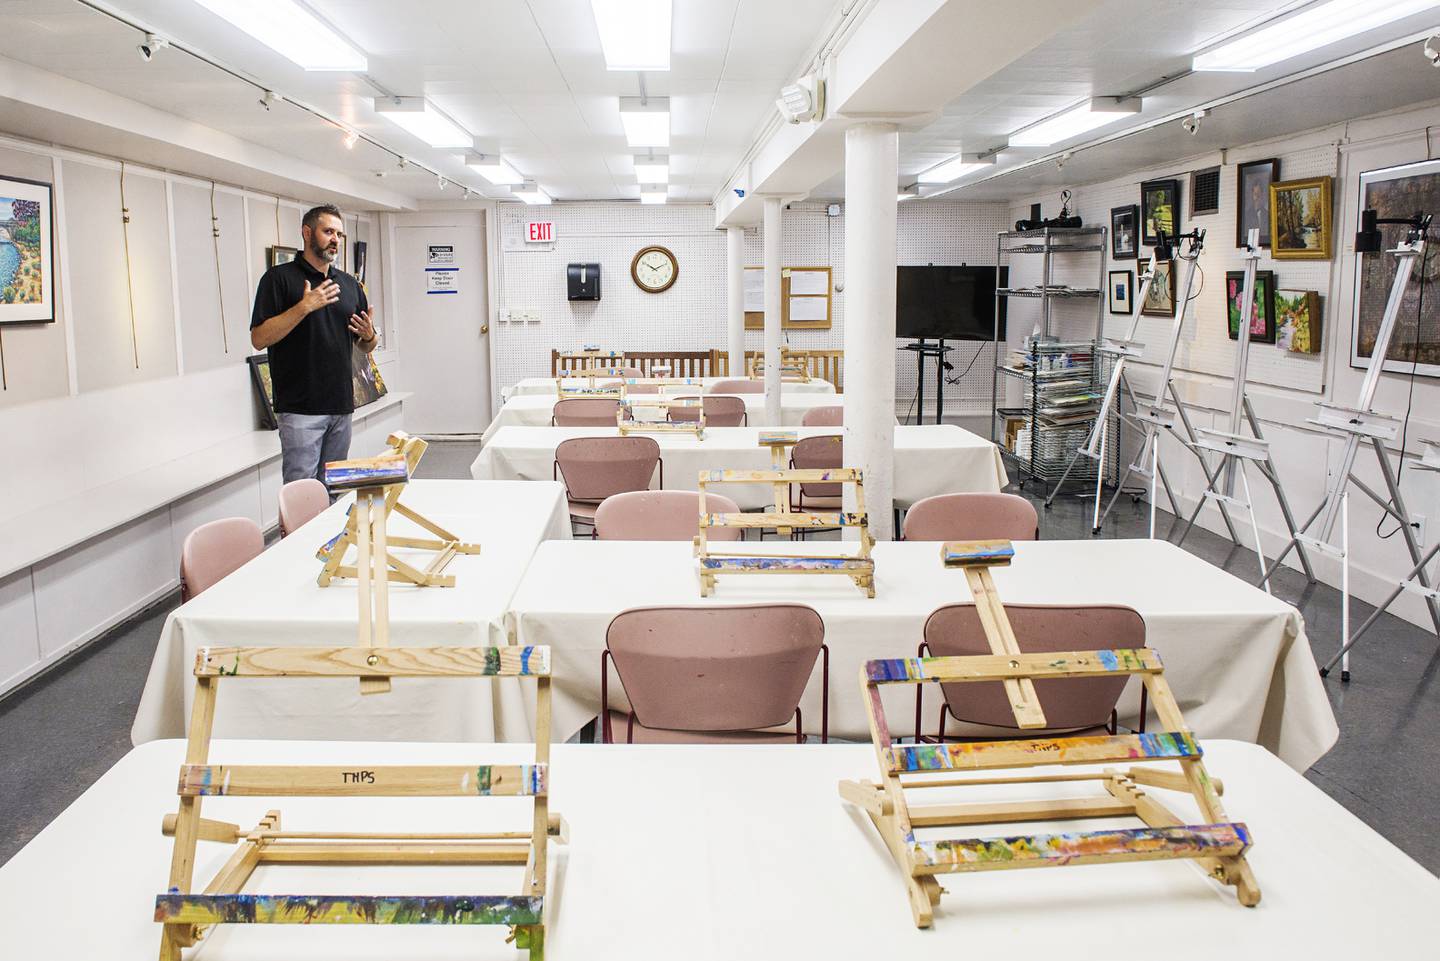
[[255, 290], [251, 327], [284, 314], [325, 280], [340, 287], [340, 300], [308, 314], [269, 346], [276, 414], [351, 414], [356, 409], [350, 352], [356, 343], [350, 316], [369, 308], [360, 282], [344, 271], [321, 274], [304, 256], [265, 271]]

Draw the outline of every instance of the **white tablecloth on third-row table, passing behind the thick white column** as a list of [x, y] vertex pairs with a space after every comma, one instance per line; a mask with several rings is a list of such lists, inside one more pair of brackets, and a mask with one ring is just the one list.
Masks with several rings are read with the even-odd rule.
[[[696, 490], [701, 470], [759, 470], [770, 465], [770, 451], [759, 445], [759, 428], [706, 428], [704, 439], [687, 434], [654, 434], [665, 467], [667, 490]], [[840, 428], [796, 428], [799, 437], [838, 434]], [[477, 480], [552, 480], [554, 448], [572, 437], [616, 437], [615, 428], [503, 426], [471, 464]], [[999, 448], [953, 424], [896, 428], [894, 501], [909, 507], [922, 497], [956, 491], [996, 491], [1005, 487]], [[765, 484], [716, 484], [743, 509], [770, 503]]]

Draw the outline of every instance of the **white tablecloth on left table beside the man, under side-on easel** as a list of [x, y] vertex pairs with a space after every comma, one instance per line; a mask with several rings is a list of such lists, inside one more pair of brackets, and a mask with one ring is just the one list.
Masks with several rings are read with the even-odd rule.
[[[192, 669], [200, 647], [346, 645], [357, 640], [353, 579], [315, 584], [315, 549], [344, 526], [346, 497], [166, 618], [135, 712], [135, 743], [186, 732], [194, 697]], [[505, 644], [505, 611], [536, 546], [569, 539], [559, 484], [412, 481], [400, 503], [462, 540], [478, 555], [458, 555], [446, 573], [454, 588], [390, 585], [390, 643], [400, 645]], [[429, 536], [393, 516], [390, 535]], [[396, 556], [429, 555], [396, 549]], [[353, 562], [354, 550], [350, 552]], [[353, 680], [259, 679], [222, 686], [216, 736], [337, 738], [369, 741], [488, 741], [494, 709], [488, 679], [436, 683], [402, 677], [386, 694], [360, 696]]]

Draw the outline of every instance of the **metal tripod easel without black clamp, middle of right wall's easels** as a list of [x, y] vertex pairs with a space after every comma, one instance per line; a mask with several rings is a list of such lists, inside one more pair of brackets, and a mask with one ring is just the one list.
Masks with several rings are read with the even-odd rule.
[[[1270, 585], [1266, 579], [1264, 546], [1260, 543], [1260, 523], [1256, 520], [1254, 499], [1250, 496], [1250, 478], [1246, 475], [1246, 464], [1254, 464], [1261, 477], [1270, 481], [1270, 486], [1274, 488], [1274, 497], [1280, 501], [1280, 511], [1284, 514], [1284, 523], [1289, 530], [1295, 530], [1295, 517], [1290, 513], [1290, 501], [1284, 496], [1284, 488], [1280, 486], [1280, 474], [1274, 465], [1274, 460], [1270, 457], [1270, 442], [1260, 432], [1260, 424], [1250, 408], [1250, 398], [1246, 395], [1246, 372], [1250, 366], [1250, 314], [1254, 310], [1256, 265], [1259, 262], [1260, 231], [1256, 228], [1246, 238], [1246, 280], [1244, 292], [1240, 298], [1241, 320], [1238, 324], [1238, 343], [1236, 346], [1234, 393], [1230, 401], [1230, 431], [1200, 428], [1195, 447], [1202, 451], [1220, 454], [1218, 470], [1215, 477], [1205, 486], [1204, 493], [1200, 496], [1200, 503], [1195, 504], [1195, 510], [1191, 511], [1189, 520], [1185, 522], [1185, 529], [1175, 543], [1185, 543], [1185, 537], [1189, 535], [1191, 527], [1195, 526], [1195, 519], [1207, 501], [1228, 507], [1243, 507], [1250, 514], [1250, 527], [1256, 537], [1256, 558], [1260, 560], [1260, 584], [1266, 589], [1266, 594], [1269, 594]], [[1240, 419], [1243, 416], [1248, 418], [1251, 434], [1240, 432]], [[1246, 493], [1243, 501], [1236, 497], [1237, 474]], [[1220, 481], [1218, 486], [1217, 481]], [[1296, 553], [1300, 558], [1300, 566], [1305, 568], [1305, 575], [1310, 581], [1315, 581], [1315, 572], [1310, 569], [1310, 558], [1305, 552], [1305, 546], [1296, 545]]]

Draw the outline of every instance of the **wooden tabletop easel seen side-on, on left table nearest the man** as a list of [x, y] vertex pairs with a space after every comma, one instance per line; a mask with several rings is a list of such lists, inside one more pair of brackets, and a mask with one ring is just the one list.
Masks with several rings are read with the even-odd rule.
[[[399, 431], [392, 434], [386, 442], [389, 444], [390, 451], [405, 457], [410, 475], [415, 474], [415, 467], [425, 455], [425, 448], [429, 447], [420, 438], [410, 437]], [[455, 586], [455, 575], [445, 573], [445, 568], [455, 559], [455, 555], [480, 553], [480, 545], [462, 542], [433, 520], [402, 504], [400, 493], [403, 488], [403, 484], [389, 484], [384, 488], [361, 488], [356, 493], [356, 506], [350, 510], [350, 516], [346, 519], [346, 529], [315, 552], [315, 556], [324, 562], [324, 566], [320, 569], [320, 576], [317, 578], [317, 584], [320, 584], [320, 586], [330, 586], [330, 582], [334, 578], [360, 576], [360, 571], [367, 569], [367, 563], [359, 555], [361, 552], [369, 552], [369, 545], [372, 542], [374, 543], [374, 550], [386, 559], [386, 579], [413, 584], [422, 588]], [[400, 514], [406, 520], [410, 520], [435, 536], [387, 537], [386, 524], [389, 523], [392, 513]], [[363, 520], [367, 523], [361, 523]], [[351, 546], [356, 547], [357, 558], [356, 563], [347, 565], [344, 563], [344, 559]], [[422, 569], [396, 558], [389, 552], [390, 547], [433, 550], [435, 556], [432, 556], [429, 563]]]

